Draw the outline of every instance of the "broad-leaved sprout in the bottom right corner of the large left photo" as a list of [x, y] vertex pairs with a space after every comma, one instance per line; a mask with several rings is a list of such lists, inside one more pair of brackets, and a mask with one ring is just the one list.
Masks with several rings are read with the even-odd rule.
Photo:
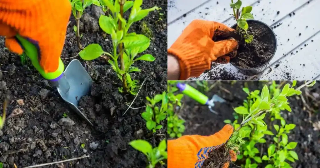
[[167, 143], [165, 139], [162, 140], [156, 148], [152, 148], [152, 145], [145, 140], [133, 140], [129, 145], [147, 156], [147, 168], [154, 168], [157, 163], [161, 163], [162, 160], [168, 158], [168, 153], [166, 151]]

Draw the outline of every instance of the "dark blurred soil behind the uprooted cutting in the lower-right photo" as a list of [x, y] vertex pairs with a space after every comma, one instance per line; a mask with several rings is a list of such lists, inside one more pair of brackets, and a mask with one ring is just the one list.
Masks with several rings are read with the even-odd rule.
[[[217, 81], [208, 81], [209, 86]], [[233, 108], [241, 106], [243, 100], [246, 99], [246, 93], [242, 91], [242, 88], [248, 87], [250, 91], [260, 90], [267, 83], [266, 81], [218, 81], [213, 89], [205, 93], [209, 98], [212, 98], [214, 94], [219, 95], [221, 98], [227, 100], [226, 103], [215, 103], [214, 110], [220, 113], [216, 115], [211, 113], [207, 106], [203, 106], [197, 103], [195, 100], [184, 96], [183, 98], [183, 107], [179, 112], [179, 116], [183, 118], [186, 123], [186, 131], [184, 135], [212, 135], [215, 132], [218, 132], [225, 123], [223, 122], [226, 119], [234, 121], [232, 113], [234, 112]], [[288, 81], [290, 82], [290, 81]], [[196, 87], [198, 90], [200, 87], [197, 86], [195, 81], [187, 81], [193, 87]], [[277, 81], [280, 83], [280, 81]], [[271, 82], [269, 82], [271, 84]], [[297, 86], [300, 86], [303, 82], [298, 82]], [[284, 85], [283, 85], [284, 86]], [[282, 86], [282, 87], [283, 87]], [[282, 88], [281, 87], [281, 88]], [[290, 107], [292, 112], [282, 111], [282, 116], [286, 120], [287, 124], [296, 124], [296, 127], [288, 134], [288, 142], [298, 142], [297, 147], [294, 151], [297, 152], [299, 160], [295, 163], [287, 161], [292, 165], [293, 168], [317, 168], [320, 167], [320, 132], [319, 130], [314, 130], [313, 123], [317, 123], [320, 120], [319, 115], [319, 105], [320, 105], [320, 82], [318, 81], [312, 88], [307, 90], [302, 89], [302, 95], [306, 104], [309, 106], [306, 107], [300, 96], [292, 96], [289, 98]], [[306, 91], [312, 96], [306, 96]], [[311, 98], [312, 97], [312, 98]], [[310, 112], [313, 109], [314, 112]], [[266, 117], [267, 118], [267, 117]], [[270, 125], [270, 121], [264, 120], [266, 124]], [[278, 122], [278, 121], [277, 121]], [[272, 123], [276, 124], [276, 123]], [[277, 124], [280, 124], [278, 122]], [[320, 128], [320, 124], [318, 126]], [[275, 130], [272, 130], [275, 132]], [[266, 135], [265, 139], [267, 140], [262, 146], [259, 146], [260, 153], [264, 155], [267, 154], [268, 146], [267, 144], [273, 143], [272, 136]], [[262, 149], [262, 150], [261, 150]], [[261, 155], [263, 156], [263, 155]], [[242, 162], [237, 161], [236, 165], [241, 165]], [[263, 162], [263, 164], [265, 164]], [[258, 167], [264, 167], [263, 164], [260, 164]], [[237, 167], [233, 165], [231, 167]]]

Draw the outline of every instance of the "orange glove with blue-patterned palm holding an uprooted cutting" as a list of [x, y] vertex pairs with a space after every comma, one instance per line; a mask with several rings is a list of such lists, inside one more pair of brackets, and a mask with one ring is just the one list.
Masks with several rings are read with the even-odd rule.
[[[233, 132], [233, 126], [227, 124], [211, 136], [185, 135], [175, 140], [168, 140], [168, 168], [200, 168], [209, 153], [226, 143]], [[236, 161], [236, 154], [229, 151], [231, 161]], [[227, 168], [229, 163], [224, 163]]]

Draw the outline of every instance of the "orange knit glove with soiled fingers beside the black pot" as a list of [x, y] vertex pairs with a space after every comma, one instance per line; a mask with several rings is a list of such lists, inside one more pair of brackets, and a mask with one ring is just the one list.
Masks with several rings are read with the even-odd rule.
[[[179, 38], [168, 49], [168, 54], [176, 56], [180, 65], [179, 80], [201, 75], [211, 68], [211, 63], [228, 63], [230, 55], [236, 56], [238, 42], [234, 39], [214, 42], [214, 36], [228, 37], [236, 31], [228, 26], [206, 20], [193, 20]], [[228, 55], [227, 55], [228, 54]]]

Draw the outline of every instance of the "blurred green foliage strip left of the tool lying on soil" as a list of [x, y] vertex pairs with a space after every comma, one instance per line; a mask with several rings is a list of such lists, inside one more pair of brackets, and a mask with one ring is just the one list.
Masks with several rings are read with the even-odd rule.
[[175, 87], [177, 81], [168, 81], [168, 128], [167, 132], [170, 138], [181, 137], [185, 130], [184, 120], [180, 119], [176, 113], [181, 108], [181, 99], [183, 94], [176, 94], [179, 89]]

